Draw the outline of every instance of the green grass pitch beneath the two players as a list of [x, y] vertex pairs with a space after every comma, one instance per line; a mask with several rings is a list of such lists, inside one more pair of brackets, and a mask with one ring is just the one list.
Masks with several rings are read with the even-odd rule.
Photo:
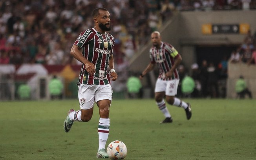
[[[108, 142], [123, 141], [126, 160], [255, 160], [256, 100], [184, 99], [192, 118], [168, 105], [172, 124], [153, 99], [116, 100]], [[99, 109], [90, 122], [63, 122], [78, 100], [0, 102], [0, 160], [94, 160]]]

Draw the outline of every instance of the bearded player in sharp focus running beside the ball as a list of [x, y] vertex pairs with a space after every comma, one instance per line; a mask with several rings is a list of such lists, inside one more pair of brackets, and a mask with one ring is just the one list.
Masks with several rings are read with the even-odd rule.
[[78, 98], [80, 110], [70, 109], [64, 121], [64, 131], [69, 132], [73, 122], [88, 122], [93, 115], [93, 105], [99, 107], [99, 149], [97, 158], [108, 158], [105, 145], [110, 129], [110, 104], [112, 87], [110, 80], [117, 79], [114, 69], [114, 37], [110, 31], [110, 13], [105, 8], [93, 11], [95, 26], [83, 31], [71, 48], [70, 54], [82, 62], [79, 75]]

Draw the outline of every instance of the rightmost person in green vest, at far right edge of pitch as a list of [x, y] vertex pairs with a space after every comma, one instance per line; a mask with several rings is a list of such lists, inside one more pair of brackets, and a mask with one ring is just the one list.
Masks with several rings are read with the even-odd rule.
[[252, 93], [247, 88], [247, 84], [243, 76], [240, 76], [236, 81], [235, 90], [236, 90], [237, 98], [243, 99], [245, 98], [245, 95], [249, 95], [249, 97], [252, 98]]

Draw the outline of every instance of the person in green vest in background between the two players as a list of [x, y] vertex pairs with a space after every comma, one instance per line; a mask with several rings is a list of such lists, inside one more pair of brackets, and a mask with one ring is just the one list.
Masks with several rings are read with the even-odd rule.
[[130, 76], [126, 82], [129, 98], [141, 98], [141, 80], [136, 76]]

